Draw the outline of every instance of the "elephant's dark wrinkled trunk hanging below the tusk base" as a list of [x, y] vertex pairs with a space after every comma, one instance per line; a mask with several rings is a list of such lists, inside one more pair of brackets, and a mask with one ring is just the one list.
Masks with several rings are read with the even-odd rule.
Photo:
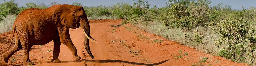
[[[85, 32], [85, 29], [83, 29], [84, 30], [84, 32]], [[89, 34], [89, 32], [85, 32], [85, 35], [84, 35], [84, 47], [85, 47], [85, 49], [86, 49], [86, 51], [87, 51], [87, 53], [91, 56], [91, 58], [93, 59], [94, 58], [94, 56], [92, 55], [92, 52], [91, 52], [91, 50], [90, 50], [90, 46], [89, 46], [89, 37], [85, 37], [85, 36], [88, 36], [87, 34]], [[90, 35], [89, 35], [90, 36]]]

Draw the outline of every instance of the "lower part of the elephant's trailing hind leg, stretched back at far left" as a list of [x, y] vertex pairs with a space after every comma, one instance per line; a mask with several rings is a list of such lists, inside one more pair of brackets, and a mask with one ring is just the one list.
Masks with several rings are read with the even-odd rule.
[[16, 38], [14, 47], [13, 47], [11, 50], [5, 52], [5, 53], [2, 55], [2, 58], [3, 58], [4, 62], [5, 62], [5, 63], [8, 63], [9, 58], [10, 58], [15, 52], [19, 51], [20, 49], [22, 49], [20, 40], [19, 40], [19, 38]]

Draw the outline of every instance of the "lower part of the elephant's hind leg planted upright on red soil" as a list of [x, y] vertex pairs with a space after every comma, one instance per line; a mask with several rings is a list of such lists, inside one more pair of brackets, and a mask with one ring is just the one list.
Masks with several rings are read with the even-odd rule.
[[23, 47], [23, 66], [27, 66], [27, 65], [33, 65], [34, 62], [30, 61], [29, 59], [29, 51], [31, 49], [31, 47], [33, 46], [32, 44], [28, 44], [28, 43], [21, 43], [22, 47]]

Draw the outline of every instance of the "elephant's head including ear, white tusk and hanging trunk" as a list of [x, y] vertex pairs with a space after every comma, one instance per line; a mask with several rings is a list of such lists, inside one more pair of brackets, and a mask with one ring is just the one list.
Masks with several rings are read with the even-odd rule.
[[57, 22], [60, 22], [61, 25], [65, 25], [69, 28], [81, 27], [83, 29], [84, 34], [87, 37], [84, 39], [84, 46], [86, 48], [87, 53], [92, 58], [94, 58], [90, 51], [88, 39], [90, 39], [92, 42], [95, 42], [96, 40], [90, 36], [90, 25], [87, 19], [87, 15], [85, 14], [84, 8], [81, 6], [58, 4], [54, 10], [54, 17]]

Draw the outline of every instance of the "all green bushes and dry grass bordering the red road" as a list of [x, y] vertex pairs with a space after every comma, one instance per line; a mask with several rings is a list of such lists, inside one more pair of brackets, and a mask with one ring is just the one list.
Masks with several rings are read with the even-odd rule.
[[[233, 10], [227, 4], [210, 6], [210, 3], [208, 0], [166, 0], [167, 6], [156, 7], [147, 0], [136, 0], [112, 6], [88, 7], [81, 2], [72, 5], [84, 7], [89, 20], [124, 18], [122, 24], [131, 23], [199, 51], [255, 65], [256, 7]], [[22, 10], [44, 9], [56, 4], [27, 3], [18, 7], [14, 0], [5, 0], [0, 4], [0, 33], [12, 30], [12, 23]]]

